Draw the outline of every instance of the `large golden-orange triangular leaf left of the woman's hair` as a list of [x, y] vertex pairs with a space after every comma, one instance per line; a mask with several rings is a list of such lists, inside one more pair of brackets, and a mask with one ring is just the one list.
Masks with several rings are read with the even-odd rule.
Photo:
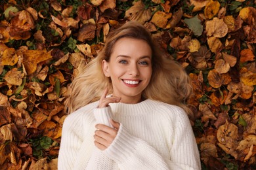
[[23, 57], [23, 64], [28, 75], [35, 72], [37, 69], [37, 63], [52, 58], [51, 54], [49, 52], [45, 52], [45, 50], [25, 50], [23, 52]]

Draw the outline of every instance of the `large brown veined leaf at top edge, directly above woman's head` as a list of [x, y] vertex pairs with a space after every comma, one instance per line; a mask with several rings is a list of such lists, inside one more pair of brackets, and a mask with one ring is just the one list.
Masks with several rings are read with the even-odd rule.
[[135, 3], [133, 3], [133, 6], [125, 11], [125, 18], [127, 18], [128, 20], [135, 20], [140, 24], [144, 24], [145, 22], [150, 20], [151, 16], [151, 10], [146, 9], [142, 1], [135, 1]]

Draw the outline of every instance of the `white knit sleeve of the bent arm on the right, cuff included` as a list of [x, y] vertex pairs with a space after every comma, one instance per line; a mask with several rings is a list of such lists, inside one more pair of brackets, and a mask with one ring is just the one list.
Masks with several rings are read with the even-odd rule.
[[[182, 119], [183, 120], [183, 119]], [[106, 156], [116, 161], [120, 169], [200, 169], [198, 147], [188, 118], [177, 122], [170, 158], [142, 139], [134, 137], [121, 124], [113, 143], [104, 150]]]

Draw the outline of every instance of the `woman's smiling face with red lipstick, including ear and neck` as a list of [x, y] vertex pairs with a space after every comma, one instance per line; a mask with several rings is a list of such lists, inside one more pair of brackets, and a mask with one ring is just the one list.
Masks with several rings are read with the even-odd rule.
[[112, 80], [113, 95], [122, 103], [139, 103], [152, 75], [152, 50], [146, 41], [119, 39], [110, 61], [102, 61], [104, 75]]

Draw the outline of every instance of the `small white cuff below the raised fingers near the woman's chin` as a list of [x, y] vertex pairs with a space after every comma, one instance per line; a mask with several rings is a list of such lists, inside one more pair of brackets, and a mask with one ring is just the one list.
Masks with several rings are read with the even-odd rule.
[[110, 106], [104, 108], [95, 108], [93, 110], [97, 124], [104, 124], [112, 127], [110, 119], [112, 119], [112, 109]]

